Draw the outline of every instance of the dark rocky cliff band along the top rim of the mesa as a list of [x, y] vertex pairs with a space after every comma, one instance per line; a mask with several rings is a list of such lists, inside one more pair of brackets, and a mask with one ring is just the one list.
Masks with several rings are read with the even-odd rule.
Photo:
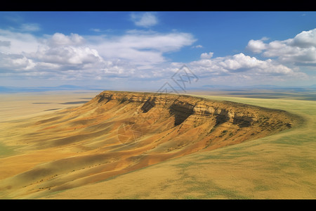
[[[117, 101], [118, 103], [135, 103], [141, 106], [143, 113], [147, 113], [154, 108], [156, 112], [162, 109], [169, 110], [175, 117], [175, 126], [181, 124], [188, 117], [191, 119], [205, 119], [208, 117], [216, 118], [216, 125], [224, 122], [237, 124], [239, 127], [250, 127], [258, 123], [270, 130], [278, 124], [279, 129], [291, 127], [291, 118], [288, 113], [282, 110], [272, 110], [249, 106], [242, 103], [229, 101], [211, 101], [206, 98], [195, 96], [129, 92], [129, 91], [103, 91], [96, 96], [98, 103]], [[191, 120], [192, 121], [192, 120]], [[195, 120], [194, 120], [195, 121]], [[277, 123], [278, 122], [278, 123]]]

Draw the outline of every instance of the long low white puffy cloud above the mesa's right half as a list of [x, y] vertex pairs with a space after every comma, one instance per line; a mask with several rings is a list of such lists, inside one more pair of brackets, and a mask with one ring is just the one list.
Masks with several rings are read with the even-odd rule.
[[[205, 53], [205, 55], [211, 53]], [[190, 63], [171, 63], [167, 68], [159, 71], [162, 75], [173, 75], [179, 68], [186, 65], [199, 77], [198, 87], [202, 85], [255, 85], [273, 84], [284, 80], [307, 79], [305, 73], [298, 72], [275, 60], [261, 60], [244, 53], [216, 58], [201, 58]]]

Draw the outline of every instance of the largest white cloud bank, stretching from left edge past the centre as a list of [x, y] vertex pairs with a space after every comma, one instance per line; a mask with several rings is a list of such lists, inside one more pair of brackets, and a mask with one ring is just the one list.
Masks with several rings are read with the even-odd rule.
[[164, 53], [195, 42], [188, 33], [138, 30], [116, 37], [0, 30], [0, 40], [2, 73], [50, 79], [150, 77]]

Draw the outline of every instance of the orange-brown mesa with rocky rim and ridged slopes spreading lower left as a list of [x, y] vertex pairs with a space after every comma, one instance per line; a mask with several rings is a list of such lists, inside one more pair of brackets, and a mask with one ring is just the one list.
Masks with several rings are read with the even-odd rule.
[[0, 159], [0, 197], [78, 188], [276, 134], [299, 121], [282, 110], [229, 101], [104, 91], [83, 106], [8, 123], [1, 143], [15, 146], [15, 155]]

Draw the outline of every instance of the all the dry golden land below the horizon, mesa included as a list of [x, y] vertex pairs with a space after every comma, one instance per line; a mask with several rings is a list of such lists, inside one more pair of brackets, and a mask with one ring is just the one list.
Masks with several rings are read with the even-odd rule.
[[0, 198], [316, 198], [316, 101], [202, 94], [2, 94]]

